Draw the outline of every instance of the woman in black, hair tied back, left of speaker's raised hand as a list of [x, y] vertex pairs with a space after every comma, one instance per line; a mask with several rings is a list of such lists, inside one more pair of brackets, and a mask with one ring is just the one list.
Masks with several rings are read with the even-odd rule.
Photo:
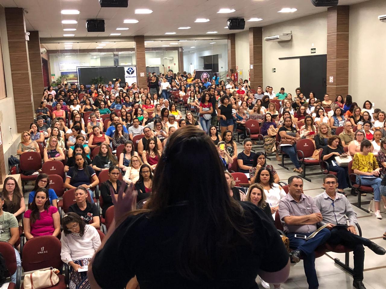
[[[127, 189], [127, 183], [118, 180], [120, 175], [119, 168], [117, 166], [110, 166], [108, 169], [108, 180], [102, 183], [100, 187], [100, 195], [103, 199], [102, 216], [105, 218], [106, 211], [113, 205], [112, 198], [117, 200], [117, 194], [119, 188], [123, 185], [124, 191]], [[111, 193], [113, 192], [113, 194]], [[139, 194], [139, 192], [138, 192]]]

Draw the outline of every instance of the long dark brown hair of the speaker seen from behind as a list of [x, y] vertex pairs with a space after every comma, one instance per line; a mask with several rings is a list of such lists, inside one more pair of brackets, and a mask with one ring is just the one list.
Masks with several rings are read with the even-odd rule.
[[[207, 165], [202, 166], [204, 161]], [[200, 181], [196, 182], [195, 175], [175, 170], [181, 166], [201, 171]], [[245, 211], [229, 196], [222, 166], [213, 141], [202, 129], [177, 129], [157, 164], [154, 179], [158, 181], [152, 185], [148, 209], [142, 211], [154, 216], [170, 206], [185, 205], [188, 217], [181, 220], [185, 223], [183, 240], [174, 253], [179, 274], [192, 280], [201, 276], [213, 279], [232, 254], [232, 247], [246, 245], [253, 250], [253, 224], [245, 220]], [[193, 182], [195, 186], [186, 186]]]

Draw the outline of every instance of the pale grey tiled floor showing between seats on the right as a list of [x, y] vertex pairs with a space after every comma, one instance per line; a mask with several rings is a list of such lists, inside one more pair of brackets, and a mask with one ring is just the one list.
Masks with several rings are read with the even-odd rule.
[[[255, 150], [256, 146], [253, 146]], [[237, 144], [237, 152], [240, 153], [243, 150], [241, 144]], [[263, 151], [262, 149], [256, 149], [255, 151]], [[286, 161], [287, 162], [287, 161]], [[289, 162], [289, 159], [288, 159]], [[278, 161], [274, 157], [271, 158], [271, 161], [267, 161], [268, 164], [273, 165], [275, 170], [279, 174], [281, 181], [288, 183], [288, 178], [295, 173], [292, 171], [294, 166], [288, 165], [289, 170], [283, 169], [278, 166]], [[319, 167], [316, 166], [315, 169], [307, 168], [309, 173], [320, 172]], [[316, 195], [323, 192], [322, 175], [315, 175], [309, 177], [312, 182], [304, 180], [304, 193], [310, 196], [315, 197]], [[346, 192], [349, 196], [350, 203], [357, 202], [357, 197], [350, 196], [350, 190]], [[372, 195], [362, 197], [362, 201], [370, 200]], [[367, 208], [368, 205], [363, 207]], [[386, 247], [386, 241], [382, 239], [383, 232], [386, 227], [386, 214], [383, 215], [383, 219], [379, 220], [357, 207], [354, 207], [357, 216], [359, 217], [359, 224], [362, 229], [362, 236], [365, 238], [374, 239], [373, 242]], [[328, 252], [322, 257], [316, 259], [315, 267], [317, 269], [317, 275], [319, 280], [319, 289], [350, 289], [352, 286], [352, 276], [341, 269], [338, 265], [335, 265], [334, 258], [339, 258], [344, 261], [344, 254]], [[350, 265], [353, 266], [353, 254], [350, 253]], [[365, 247], [365, 261], [364, 261], [364, 285], [367, 289], [385, 289], [386, 288], [386, 255], [379, 256], [376, 255], [371, 250]], [[260, 281], [257, 278], [256, 281], [260, 285]], [[282, 285], [283, 289], [307, 289], [308, 284], [303, 269], [303, 261], [300, 261], [298, 264], [291, 264], [291, 272], [287, 282]], [[271, 285], [273, 288], [273, 285]]]

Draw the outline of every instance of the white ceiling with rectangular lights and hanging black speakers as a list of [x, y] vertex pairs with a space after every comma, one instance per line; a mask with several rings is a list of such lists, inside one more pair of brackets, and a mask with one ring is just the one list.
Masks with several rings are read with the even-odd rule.
[[[366, 0], [340, 0], [339, 5], [351, 5]], [[110, 33], [121, 36], [160, 36], [166, 32], [178, 35], [208, 35], [208, 31], [218, 34], [237, 33], [241, 30], [224, 29], [227, 18], [263, 18], [259, 22], [246, 22], [245, 29], [266, 26], [289, 19], [302, 17], [327, 10], [327, 7], [314, 7], [310, 0], [129, 0], [128, 8], [101, 8], [98, 0], [0, 0], [3, 7], [20, 7], [28, 11], [25, 15], [27, 30], [39, 30], [42, 38], [63, 37], [111, 37]], [[151, 14], [134, 14], [137, 8], [149, 8]], [[217, 13], [220, 8], [235, 9], [233, 13]], [[278, 13], [282, 8], [297, 8], [293, 13]], [[63, 9], [76, 9], [79, 15], [62, 15]], [[87, 32], [86, 19], [104, 19], [105, 32]], [[137, 24], [124, 24], [124, 19], [137, 19]], [[208, 18], [209, 22], [195, 23], [196, 18]], [[78, 24], [62, 24], [61, 20], [77, 20]], [[179, 30], [178, 27], [190, 26], [191, 29]], [[116, 30], [128, 27], [129, 30]], [[64, 28], [77, 30], [63, 31]], [[71, 40], [71, 37], [66, 37]]]

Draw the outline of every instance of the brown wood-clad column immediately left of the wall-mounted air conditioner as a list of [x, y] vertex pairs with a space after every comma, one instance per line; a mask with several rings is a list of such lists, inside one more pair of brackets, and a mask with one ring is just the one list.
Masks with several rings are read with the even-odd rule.
[[263, 85], [263, 45], [262, 27], [249, 28], [249, 69], [253, 89]]

